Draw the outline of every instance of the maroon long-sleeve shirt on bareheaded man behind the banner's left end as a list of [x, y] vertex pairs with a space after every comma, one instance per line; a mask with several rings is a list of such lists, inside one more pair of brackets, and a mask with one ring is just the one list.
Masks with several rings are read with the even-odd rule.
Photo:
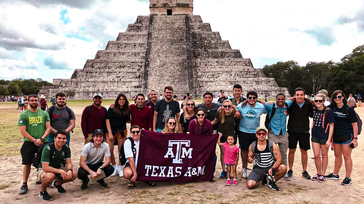
[[139, 108], [137, 104], [131, 104], [130, 112], [131, 125], [137, 125], [145, 130], [153, 128], [153, 114], [148, 106], [144, 105], [142, 108]]

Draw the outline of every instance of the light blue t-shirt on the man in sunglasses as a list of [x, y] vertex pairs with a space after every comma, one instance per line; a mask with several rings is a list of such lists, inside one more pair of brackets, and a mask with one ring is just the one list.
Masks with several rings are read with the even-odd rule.
[[254, 107], [250, 107], [248, 103], [243, 107], [238, 104], [238, 110], [241, 114], [239, 130], [248, 133], [256, 132], [260, 125], [260, 116], [268, 112], [261, 103], [256, 103]]

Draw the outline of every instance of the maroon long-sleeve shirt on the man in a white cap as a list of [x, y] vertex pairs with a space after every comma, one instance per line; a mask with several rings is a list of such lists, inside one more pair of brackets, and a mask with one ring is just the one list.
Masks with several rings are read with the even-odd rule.
[[[96, 129], [102, 129], [105, 132], [105, 117], [106, 114], [102, 107], [100, 109], [92, 104], [91, 115], [88, 117], [88, 106], [83, 110], [81, 117], [81, 129], [83, 136], [88, 137], [88, 134], [92, 134]], [[106, 131], [107, 132], [107, 131]], [[105, 133], [106, 133], [105, 132]]]

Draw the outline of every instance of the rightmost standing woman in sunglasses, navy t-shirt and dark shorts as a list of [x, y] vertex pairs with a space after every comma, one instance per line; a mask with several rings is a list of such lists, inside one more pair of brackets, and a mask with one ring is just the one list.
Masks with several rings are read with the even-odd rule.
[[345, 93], [341, 90], [334, 91], [329, 107], [335, 115], [335, 126], [332, 135], [335, 164], [334, 171], [326, 175], [325, 178], [339, 180], [339, 171], [344, 156], [346, 175], [341, 184], [350, 185], [352, 183], [350, 175], [353, 169], [351, 152], [353, 148], [358, 146], [358, 119], [355, 110], [347, 105]]

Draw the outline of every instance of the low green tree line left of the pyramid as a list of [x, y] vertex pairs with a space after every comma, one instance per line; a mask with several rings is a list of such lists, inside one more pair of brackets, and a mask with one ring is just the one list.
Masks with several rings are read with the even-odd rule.
[[43, 85], [52, 86], [53, 84], [37, 79], [13, 79], [11, 81], [0, 79], [0, 95], [30, 95], [38, 94]]

